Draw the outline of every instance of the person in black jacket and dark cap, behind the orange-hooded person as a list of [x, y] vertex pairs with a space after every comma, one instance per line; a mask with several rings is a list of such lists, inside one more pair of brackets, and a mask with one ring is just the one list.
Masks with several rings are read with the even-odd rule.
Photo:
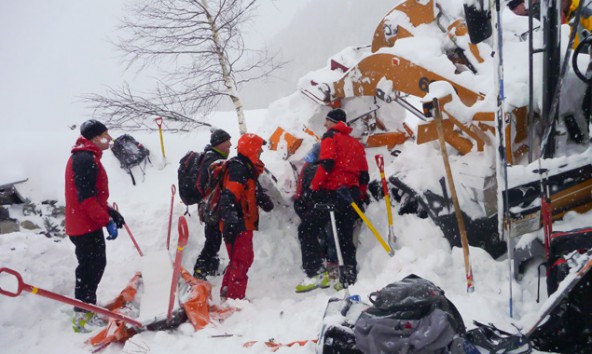
[[[198, 179], [199, 189], [202, 191], [206, 190], [208, 184], [209, 168], [215, 161], [226, 160], [230, 153], [230, 134], [222, 129], [216, 129], [210, 136], [210, 144], [204, 149], [204, 157], [201, 163], [201, 169], [199, 171], [200, 178]], [[200, 203], [198, 208], [203, 208], [203, 204]], [[203, 219], [202, 219], [203, 221]], [[193, 267], [193, 276], [198, 279], [206, 279], [208, 275], [216, 275], [218, 267], [220, 265], [220, 259], [218, 258], [218, 251], [220, 251], [220, 245], [222, 244], [222, 233], [218, 228], [218, 223], [209, 224], [205, 223], [204, 233], [206, 241], [201, 250], [201, 253], [195, 261]]]

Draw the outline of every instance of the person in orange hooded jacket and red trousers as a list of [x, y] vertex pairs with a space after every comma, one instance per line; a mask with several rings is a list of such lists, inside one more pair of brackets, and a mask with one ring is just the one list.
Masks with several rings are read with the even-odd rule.
[[230, 262], [224, 271], [220, 298], [244, 299], [253, 264], [253, 231], [259, 227], [259, 208], [273, 209], [273, 202], [258, 182], [265, 165], [260, 159], [266, 142], [260, 136], [243, 134], [237, 156], [228, 161], [220, 196], [220, 230]]

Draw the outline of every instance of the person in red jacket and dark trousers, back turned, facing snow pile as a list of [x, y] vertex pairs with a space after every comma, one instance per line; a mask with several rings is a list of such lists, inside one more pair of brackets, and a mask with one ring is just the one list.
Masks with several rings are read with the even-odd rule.
[[[337, 283], [336, 288], [354, 284], [357, 280], [353, 234], [358, 215], [346, 198], [351, 197], [356, 202], [362, 201], [370, 180], [364, 146], [349, 135], [352, 128], [347, 126], [346, 120], [346, 114], [342, 109], [333, 109], [327, 113], [324, 125], [327, 131], [321, 140], [319, 166], [310, 186], [315, 201], [332, 204], [335, 208], [337, 234], [344, 263], [339, 275], [340, 284]], [[341, 194], [347, 194], [349, 197]], [[318, 219], [330, 221], [326, 210], [317, 209], [315, 212]], [[323, 264], [317, 235], [299, 234], [299, 239], [303, 250], [302, 268], [307, 276], [296, 286], [296, 292], [328, 287], [329, 275]]]

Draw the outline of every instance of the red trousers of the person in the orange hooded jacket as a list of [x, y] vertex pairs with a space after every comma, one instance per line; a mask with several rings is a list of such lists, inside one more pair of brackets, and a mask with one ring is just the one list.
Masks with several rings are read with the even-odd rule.
[[247, 273], [253, 264], [253, 231], [243, 231], [234, 240], [226, 243], [230, 263], [224, 272], [220, 297], [244, 299], [247, 292]]

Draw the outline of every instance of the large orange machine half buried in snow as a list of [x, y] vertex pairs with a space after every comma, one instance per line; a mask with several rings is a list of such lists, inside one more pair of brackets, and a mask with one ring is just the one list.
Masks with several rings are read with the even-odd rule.
[[[494, 258], [507, 254], [511, 276], [519, 278], [535, 259], [546, 261], [551, 274], [558, 259], [592, 248], [590, 228], [552, 230], [553, 221], [566, 213], [592, 209], [590, 2], [571, 1], [568, 9], [561, 0], [543, 0], [539, 7], [531, 2], [537, 11], [528, 17], [512, 13], [499, 0], [458, 3], [399, 2], [377, 26], [370, 46], [347, 48], [327, 68], [301, 80], [300, 92], [321, 107], [308, 122], [314, 125], [331, 108], [345, 109], [356, 117], [348, 124], [367, 147], [391, 151], [388, 183], [400, 214], [429, 217], [453, 246], [464, 243], [460, 231], [470, 245]], [[502, 31], [510, 22], [510, 29]], [[504, 66], [504, 48], [517, 62]], [[296, 151], [314, 140], [314, 133], [306, 124], [303, 132], [284, 124], [270, 138], [271, 148], [286, 147], [285, 159], [294, 165]], [[433, 167], [442, 166], [444, 156], [446, 171], [434, 176]], [[460, 177], [456, 188], [453, 174]], [[536, 237], [542, 229], [544, 237]], [[576, 280], [562, 286], [567, 293], [576, 281], [589, 278], [587, 259], [572, 276]], [[549, 295], [561, 279], [555, 280]], [[578, 285], [574, 296], [589, 296], [589, 288]], [[577, 303], [564, 299], [570, 296], [550, 296], [546, 315], [553, 318], [557, 308], [565, 313], [566, 301]], [[582, 311], [571, 310], [576, 317]], [[585, 322], [590, 328], [592, 321]], [[506, 343], [531, 342], [537, 349], [561, 352], [589, 349], [590, 338], [583, 337], [541, 343], [551, 333], [541, 323], [525, 329], [525, 335], [508, 335]], [[326, 347], [325, 331], [320, 352]], [[573, 347], [578, 341], [582, 348]]]

